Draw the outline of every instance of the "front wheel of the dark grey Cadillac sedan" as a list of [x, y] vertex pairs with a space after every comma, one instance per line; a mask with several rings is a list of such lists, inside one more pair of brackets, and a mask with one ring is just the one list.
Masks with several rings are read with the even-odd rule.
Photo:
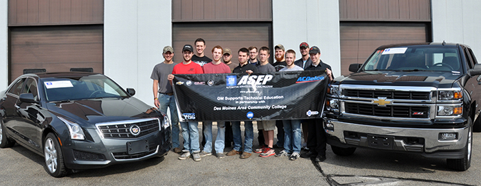
[[68, 170], [63, 161], [62, 149], [53, 133], [49, 133], [43, 141], [43, 154], [45, 154], [44, 168], [50, 176], [60, 178], [67, 175]]

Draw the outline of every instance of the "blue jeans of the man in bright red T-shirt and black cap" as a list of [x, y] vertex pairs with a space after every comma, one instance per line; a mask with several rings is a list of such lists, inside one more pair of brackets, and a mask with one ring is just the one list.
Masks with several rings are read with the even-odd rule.
[[181, 122], [183, 136], [182, 152], [199, 153], [201, 147], [199, 145], [199, 128], [197, 121]]

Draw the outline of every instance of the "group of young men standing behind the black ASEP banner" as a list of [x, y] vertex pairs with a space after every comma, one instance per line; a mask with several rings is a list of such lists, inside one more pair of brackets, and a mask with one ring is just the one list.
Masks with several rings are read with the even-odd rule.
[[[192, 45], [184, 45], [182, 48], [183, 61], [176, 64], [172, 61], [174, 50], [170, 46], [164, 47], [162, 55], [164, 62], [155, 65], [152, 75], [154, 104], [159, 110], [167, 112], [170, 110], [172, 121], [172, 148], [176, 153], [181, 153], [179, 159], [188, 159], [190, 156], [194, 161], [200, 161], [201, 157], [212, 155], [212, 143], [216, 156], [224, 159], [225, 156], [240, 154], [240, 159], [247, 159], [251, 154], [259, 153], [259, 156], [289, 156], [289, 159], [296, 160], [299, 157], [315, 158], [320, 162], [326, 159], [326, 134], [322, 128], [322, 119], [288, 119], [288, 120], [267, 120], [257, 121], [258, 141], [260, 148], [253, 150], [254, 127], [252, 121], [244, 121], [245, 137], [242, 141], [240, 121], [217, 121], [217, 135], [212, 141], [212, 121], [203, 121], [203, 140], [199, 143], [199, 130], [197, 121], [180, 122], [183, 136], [183, 148], [179, 142], [179, 118], [175, 105], [175, 96], [172, 91], [172, 80], [175, 74], [196, 74], [196, 73], [258, 73], [273, 71], [325, 71], [328, 80], [333, 80], [331, 66], [320, 60], [321, 51], [318, 47], [311, 47], [307, 43], [300, 44], [302, 57], [295, 60], [295, 51], [285, 51], [284, 46], [276, 45], [276, 61], [269, 63], [270, 49], [268, 47], [241, 48], [238, 50], [238, 65], [231, 61], [232, 51], [216, 45], [212, 48], [212, 59], [204, 55], [205, 40], [198, 38]], [[301, 124], [306, 138], [306, 150], [300, 154]], [[274, 130], [278, 129], [278, 143], [273, 144]], [[308, 133], [309, 131], [309, 133]], [[224, 154], [225, 146], [234, 142], [234, 148]], [[227, 141], [227, 143], [226, 143]], [[274, 148], [284, 148], [276, 154]]]

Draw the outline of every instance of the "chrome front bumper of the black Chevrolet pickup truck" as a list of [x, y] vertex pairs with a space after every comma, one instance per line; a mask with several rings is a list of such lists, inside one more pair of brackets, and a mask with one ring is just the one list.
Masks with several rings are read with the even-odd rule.
[[[326, 124], [332, 124], [328, 130]], [[331, 146], [378, 148], [397, 152], [418, 153], [429, 158], [461, 159], [467, 144], [469, 128], [396, 128], [387, 126], [370, 126], [353, 124], [337, 119], [324, 118], [324, 129], [327, 143]], [[331, 128], [332, 129], [332, 128]], [[442, 132], [457, 133], [454, 140], [442, 141]], [[368, 139], [380, 137], [388, 139], [386, 146], [378, 146], [377, 142]], [[377, 139], [376, 139], [377, 140]]]

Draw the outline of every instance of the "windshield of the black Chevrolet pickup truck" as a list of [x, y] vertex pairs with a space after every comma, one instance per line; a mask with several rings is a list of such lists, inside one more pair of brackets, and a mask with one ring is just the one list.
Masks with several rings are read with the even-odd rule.
[[418, 46], [377, 50], [361, 71], [452, 71], [462, 70], [456, 48]]

